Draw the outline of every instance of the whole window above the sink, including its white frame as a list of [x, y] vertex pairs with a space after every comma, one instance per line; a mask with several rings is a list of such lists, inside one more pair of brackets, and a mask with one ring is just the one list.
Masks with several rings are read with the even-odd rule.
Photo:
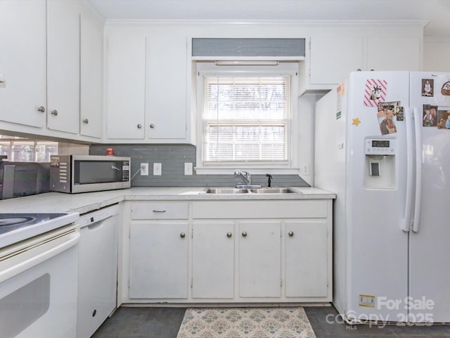
[[242, 68], [198, 67], [201, 132], [197, 171], [289, 169], [295, 163], [293, 121], [297, 105], [293, 87], [297, 92], [297, 63]]

